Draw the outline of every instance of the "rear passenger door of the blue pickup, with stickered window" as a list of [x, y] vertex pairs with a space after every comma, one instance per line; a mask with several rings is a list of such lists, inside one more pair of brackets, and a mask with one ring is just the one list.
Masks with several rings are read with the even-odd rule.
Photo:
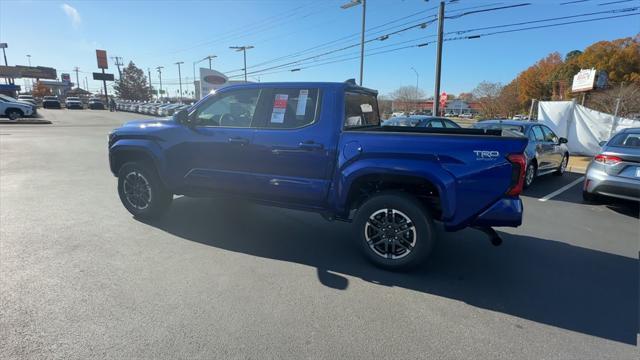
[[319, 88], [263, 90], [253, 162], [260, 198], [309, 207], [326, 199], [336, 141], [328, 119], [321, 121], [321, 106]]

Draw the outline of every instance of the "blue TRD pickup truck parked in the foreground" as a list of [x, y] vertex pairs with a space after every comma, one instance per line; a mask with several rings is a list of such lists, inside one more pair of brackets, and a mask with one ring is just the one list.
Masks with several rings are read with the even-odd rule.
[[352, 222], [375, 264], [424, 260], [449, 231], [519, 226], [527, 145], [499, 130], [381, 126], [377, 92], [344, 83], [229, 86], [170, 120], [109, 135], [111, 172], [134, 216], [174, 194], [228, 195]]

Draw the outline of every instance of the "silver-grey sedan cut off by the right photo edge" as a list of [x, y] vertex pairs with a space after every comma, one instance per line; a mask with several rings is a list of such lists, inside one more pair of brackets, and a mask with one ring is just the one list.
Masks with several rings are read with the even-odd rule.
[[582, 197], [640, 201], [640, 128], [624, 129], [602, 146], [589, 167]]

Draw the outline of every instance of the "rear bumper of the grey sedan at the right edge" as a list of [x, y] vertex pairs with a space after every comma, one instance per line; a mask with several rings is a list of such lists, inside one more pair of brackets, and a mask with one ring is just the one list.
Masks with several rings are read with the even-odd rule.
[[609, 175], [593, 167], [587, 170], [583, 190], [590, 194], [640, 201], [640, 179]]

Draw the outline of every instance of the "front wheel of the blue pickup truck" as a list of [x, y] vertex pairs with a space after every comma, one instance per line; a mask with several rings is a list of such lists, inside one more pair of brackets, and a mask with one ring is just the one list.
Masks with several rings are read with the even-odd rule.
[[155, 169], [138, 162], [128, 162], [120, 167], [118, 195], [124, 207], [142, 219], [160, 217], [173, 199], [173, 194], [165, 189]]

